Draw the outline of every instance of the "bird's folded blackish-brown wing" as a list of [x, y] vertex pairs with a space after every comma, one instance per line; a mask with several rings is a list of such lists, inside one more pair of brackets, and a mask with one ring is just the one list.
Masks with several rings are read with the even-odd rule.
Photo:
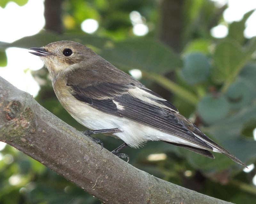
[[[167, 103], [167, 101], [163, 100], [162, 97], [160, 98], [156, 93], [153, 96], [159, 97], [160, 100], [157, 100], [153, 96], [150, 100], [157, 102], [159, 106], [156, 103], [151, 104], [150, 102], [145, 102], [130, 95], [129, 90], [136, 88], [132, 84], [98, 83], [87, 87], [82, 87], [79, 84], [67, 85], [72, 87], [72, 95], [75, 98], [96, 109], [119, 117], [135, 120], [146, 126], [179, 136], [187, 141], [212, 150], [210, 145], [196, 137], [186, 127], [186, 124], [177, 117], [177, 114], [179, 114], [176, 112], [177, 109], [174, 109], [173, 105], [170, 105], [169, 102]], [[151, 91], [147, 92], [151, 93]], [[118, 102], [124, 108], [118, 109], [115, 102]], [[165, 108], [161, 107], [164, 103], [168, 105]], [[168, 108], [169, 106], [170, 108]]]

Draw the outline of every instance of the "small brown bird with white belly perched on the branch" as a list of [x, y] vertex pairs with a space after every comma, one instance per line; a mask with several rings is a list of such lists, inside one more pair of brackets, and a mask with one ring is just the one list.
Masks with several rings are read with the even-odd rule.
[[[84, 134], [103, 133], [125, 143], [113, 150], [116, 156], [126, 146], [139, 148], [147, 141], [164, 141], [209, 158], [211, 152], [226, 155], [246, 165], [207, 137], [166, 99], [135, 78], [117, 69], [89, 47], [63, 40], [29, 48], [40, 57], [52, 78], [60, 104], [84, 127]], [[102, 142], [94, 138], [95, 142]]]

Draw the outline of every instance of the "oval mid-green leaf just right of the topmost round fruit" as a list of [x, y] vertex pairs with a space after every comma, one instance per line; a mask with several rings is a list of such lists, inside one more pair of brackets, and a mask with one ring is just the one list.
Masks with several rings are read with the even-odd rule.
[[212, 71], [213, 80], [222, 83], [228, 79], [231, 73], [239, 69], [244, 53], [235, 42], [225, 40], [220, 42], [213, 54], [214, 67]]

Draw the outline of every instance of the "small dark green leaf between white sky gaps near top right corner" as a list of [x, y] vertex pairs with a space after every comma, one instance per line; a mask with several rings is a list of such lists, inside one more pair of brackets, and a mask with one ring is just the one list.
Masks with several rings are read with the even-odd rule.
[[253, 12], [254, 10], [245, 13], [241, 21], [234, 21], [229, 25], [229, 29], [228, 29], [229, 38], [232, 38], [239, 43], [242, 43], [244, 41], [245, 22]]

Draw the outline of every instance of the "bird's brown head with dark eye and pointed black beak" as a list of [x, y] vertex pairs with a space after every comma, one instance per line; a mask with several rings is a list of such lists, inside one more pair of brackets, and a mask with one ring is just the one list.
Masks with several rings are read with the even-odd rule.
[[29, 48], [28, 52], [41, 58], [51, 77], [79, 67], [84, 62], [90, 63], [98, 56], [90, 48], [68, 40], [53, 42], [44, 47]]

